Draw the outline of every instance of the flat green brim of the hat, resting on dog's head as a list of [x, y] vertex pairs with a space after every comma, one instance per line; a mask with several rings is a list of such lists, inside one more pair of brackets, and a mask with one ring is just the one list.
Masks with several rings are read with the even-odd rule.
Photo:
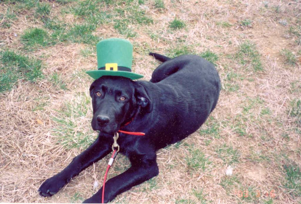
[[86, 73], [89, 76], [91, 76], [93, 79], [98, 79], [102, 76], [123, 76], [135, 80], [143, 77], [143, 75], [141, 74], [136, 74], [127, 71], [91, 70], [91, 71], [86, 71]]

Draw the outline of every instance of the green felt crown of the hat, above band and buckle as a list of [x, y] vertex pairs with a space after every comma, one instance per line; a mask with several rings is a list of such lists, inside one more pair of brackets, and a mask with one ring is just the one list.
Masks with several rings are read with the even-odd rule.
[[105, 67], [107, 63], [117, 63], [119, 67], [132, 69], [132, 44], [125, 39], [110, 38], [97, 43], [98, 69]]

